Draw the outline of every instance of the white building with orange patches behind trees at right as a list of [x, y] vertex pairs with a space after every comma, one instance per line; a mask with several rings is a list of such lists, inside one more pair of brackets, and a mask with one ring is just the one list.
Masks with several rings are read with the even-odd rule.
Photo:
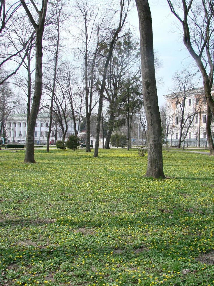
[[[211, 91], [214, 94], [214, 88]], [[183, 109], [183, 132], [182, 139], [185, 138], [185, 146], [205, 147], [207, 143], [206, 135], [206, 97], [204, 88], [193, 88], [184, 97], [182, 93], [171, 93], [163, 96], [166, 100], [166, 113], [168, 125], [171, 132], [168, 135], [168, 142], [172, 146], [178, 145], [180, 135], [181, 116]], [[211, 133], [214, 137], [214, 123], [212, 116]], [[183, 145], [183, 144], [182, 144]]]

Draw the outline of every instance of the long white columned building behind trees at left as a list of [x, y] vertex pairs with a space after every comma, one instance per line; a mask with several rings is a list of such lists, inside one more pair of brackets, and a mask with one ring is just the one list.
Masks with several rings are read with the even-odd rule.
[[[66, 138], [71, 134], [74, 134], [73, 121], [67, 119], [68, 131]], [[64, 126], [65, 127], [65, 126]], [[37, 144], [46, 144], [47, 143], [47, 132], [49, 129], [49, 114], [41, 113], [37, 117], [35, 134], [34, 134], [34, 143]], [[26, 141], [27, 133], [27, 114], [13, 114], [7, 119], [6, 123], [6, 135], [8, 143], [19, 143]], [[52, 143], [56, 140], [62, 139], [62, 131], [57, 120], [52, 122], [52, 132], [50, 140]]]

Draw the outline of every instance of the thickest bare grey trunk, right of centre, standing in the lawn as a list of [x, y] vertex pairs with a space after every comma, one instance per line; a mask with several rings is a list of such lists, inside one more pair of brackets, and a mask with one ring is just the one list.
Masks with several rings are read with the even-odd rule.
[[139, 16], [142, 86], [147, 120], [148, 165], [146, 176], [165, 178], [162, 132], [155, 80], [152, 17], [148, 1], [135, 0]]

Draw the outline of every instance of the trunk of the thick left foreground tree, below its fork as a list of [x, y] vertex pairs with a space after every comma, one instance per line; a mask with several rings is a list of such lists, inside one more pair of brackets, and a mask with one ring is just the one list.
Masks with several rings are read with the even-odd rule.
[[24, 163], [36, 163], [34, 159], [34, 131], [36, 127], [36, 119], [39, 111], [39, 104], [42, 96], [42, 39], [44, 28], [36, 33], [36, 68], [35, 68], [35, 90], [33, 95], [32, 108], [27, 125], [26, 134], [26, 151]]

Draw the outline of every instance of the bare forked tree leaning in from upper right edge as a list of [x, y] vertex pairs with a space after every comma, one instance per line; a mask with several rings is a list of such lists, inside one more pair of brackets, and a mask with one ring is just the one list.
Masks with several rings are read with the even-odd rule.
[[172, 4], [171, 0], [167, 2], [171, 12], [182, 24], [184, 45], [201, 72], [206, 100], [214, 116], [214, 101], [211, 96], [214, 71], [214, 1], [179, 0], [176, 4]]

